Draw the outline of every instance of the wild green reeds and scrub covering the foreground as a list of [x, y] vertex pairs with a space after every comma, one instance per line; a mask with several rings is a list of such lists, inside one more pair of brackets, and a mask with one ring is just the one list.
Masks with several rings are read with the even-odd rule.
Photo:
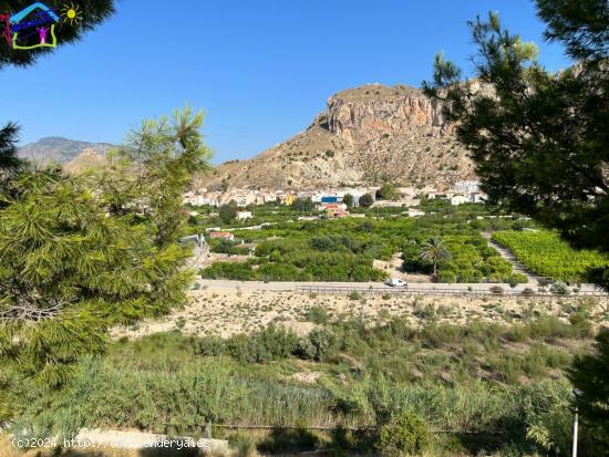
[[[312, 309], [303, 319], [316, 330], [306, 336], [271, 325], [228, 340], [179, 332], [124, 339], [104, 357], [84, 359], [70, 388], [21, 384], [12, 428], [200, 436], [211, 422], [214, 436], [247, 438], [271, 454], [414, 446], [427, 455], [564, 455], [571, 418], [564, 370], [589, 346], [591, 304], [574, 302], [570, 323], [531, 313], [458, 326], [430, 315], [419, 330], [401, 319], [371, 328], [355, 316], [330, 322]], [[247, 429], [223, 425], [276, 428], [244, 437]], [[402, 427], [412, 439], [390, 439]]]

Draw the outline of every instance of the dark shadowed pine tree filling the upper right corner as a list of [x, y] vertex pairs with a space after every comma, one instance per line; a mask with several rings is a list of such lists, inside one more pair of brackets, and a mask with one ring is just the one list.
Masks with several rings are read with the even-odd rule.
[[[558, 229], [576, 247], [609, 251], [609, 4], [537, 0], [545, 37], [565, 45], [570, 69], [547, 71], [538, 50], [499, 23], [471, 22], [476, 77], [436, 56], [425, 92], [471, 152], [491, 202]], [[589, 279], [609, 288], [609, 269]]]

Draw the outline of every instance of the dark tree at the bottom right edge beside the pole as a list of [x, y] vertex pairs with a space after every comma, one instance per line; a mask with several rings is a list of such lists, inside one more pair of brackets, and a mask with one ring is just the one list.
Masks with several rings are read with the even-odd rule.
[[599, 455], [609, 455], [609, 330], [597, 335], [592, 354], [576, 356], [569, 378], [581, 391], [575, 401], [584, 422], [605, 449]]

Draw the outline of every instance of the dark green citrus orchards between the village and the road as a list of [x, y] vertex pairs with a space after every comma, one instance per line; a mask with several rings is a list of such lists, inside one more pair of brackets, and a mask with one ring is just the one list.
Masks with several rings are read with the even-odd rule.
[[[373, 261], [389, 260], [398, 252], [402, 252], [404, 271], [431, 274], [431, 263], [420, 258], [421, 246], [440, 237], [451, 253], [438, 266], [440, 282], [508, 282], [514, 278], [512, 266], [487, 246], [479, 232], [513, 228], [522, 224], [519, 220], [487, 219], [492, 214], [482, 205], [455, 208], [431, 202], [423, 209], [429, 214], [416, 219], [403, 216], [403, 209], [396, 208], [368, 210], [365, 218], [298, 221], [298, 214], [285, 207], [256, 208], [258, 224], [273, 225], [262, 230], [239, 230], [237, 225], [236, 243], [211, 243], [213, 251], [230, 253], [245, 252], [239, 248], [240, 241], [256, 243], [255, 256], [245, 263], [216, 262], [202, 276], [233, 280], [383, 281], [388, 273], [374, 269]], [[526, 282], [526, 278], [515, 279]]]

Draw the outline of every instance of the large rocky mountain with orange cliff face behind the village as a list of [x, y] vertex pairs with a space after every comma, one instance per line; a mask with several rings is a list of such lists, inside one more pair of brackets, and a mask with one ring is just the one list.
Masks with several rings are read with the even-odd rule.
[[251, 159], [223, 164], [197, 186], [296, 190], [474, 178], [473, 164], [441, 111], [414, 87], [347, 90], [331, 96], [306, 131]]

